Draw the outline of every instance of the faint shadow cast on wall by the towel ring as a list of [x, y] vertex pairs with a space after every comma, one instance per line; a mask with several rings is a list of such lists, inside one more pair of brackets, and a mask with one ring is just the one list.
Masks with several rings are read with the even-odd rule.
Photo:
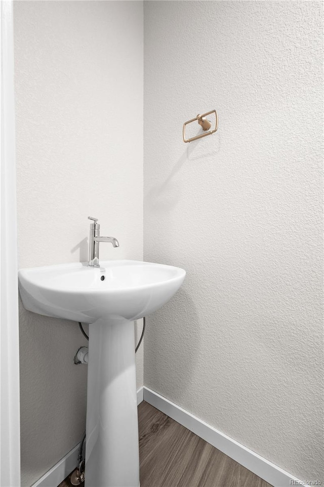
[[208, 159], [214, 156], [220, 151], [220, 138], [217, 137], [216, 139], [213, 139], [214, 142], [216, 140], [217, 144], [213, 152], [200, 152], [199, 155], [197, 155], [196, 157], [190, 157], [190, 155], [198, 146], [204, 147], [204, 145], [201, 146], [201, 144], [204, 144], [204, 140], [205, 139], [194, 140], [188, 143], [184, 153], [178, 159], [167, 179], [162, 184], [156, 185], [150, 191], [148, 191], [146, 200], [152, 206], [152, 208], [154, 208], [154, 210], [159, 211], [160, 213], [171, 210], [177, 205], [178, 201], [181, 199], [182, 185], [174, 179], [177, 173], [179, 173], [179, 171], [181, 170], [184, 163], [188, 163], [194, 160], [203, 161], [204, 159]]

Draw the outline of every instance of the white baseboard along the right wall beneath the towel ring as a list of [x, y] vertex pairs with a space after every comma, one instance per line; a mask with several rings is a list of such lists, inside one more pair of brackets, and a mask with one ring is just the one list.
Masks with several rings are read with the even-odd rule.
[[274, 485], [274, 487], [289, 487], [292, 484], [291, 480], [300, 482], [298, 478], [277, 467], [265, 458], [262, 458], [257, 453], [252, 452], [252, 450], [249, 450], [244, 445], [241, 445], [204, 421], [196, 418], [165, 397], [145, 386], [143, 387], [143, 392], [144, 401], [170, 416], [170, 418], [182, 424], [185, 428], [212, 444], [213, 447], [225, 453], [225, 455], [266, 480], [266, 482]]

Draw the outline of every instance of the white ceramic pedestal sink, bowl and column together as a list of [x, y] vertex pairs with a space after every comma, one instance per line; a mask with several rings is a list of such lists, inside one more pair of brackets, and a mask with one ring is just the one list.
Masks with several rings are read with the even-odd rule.
[[131, 260], [19, 271], [27, 310], [90, 323], [86, 487], [139, 486], [133, 321], [167, 303], [185, 274]]

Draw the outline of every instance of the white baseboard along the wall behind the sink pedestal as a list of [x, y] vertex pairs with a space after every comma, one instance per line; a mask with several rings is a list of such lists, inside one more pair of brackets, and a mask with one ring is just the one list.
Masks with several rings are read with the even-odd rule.
[[[143, 386], [137, 391], [137, 404], [143, 401]], [[56, 487], [59, 485], [77, 465], [77, 453], [79, 444], [63, 457], [54, 467], [46, 472], [32, 487]]]

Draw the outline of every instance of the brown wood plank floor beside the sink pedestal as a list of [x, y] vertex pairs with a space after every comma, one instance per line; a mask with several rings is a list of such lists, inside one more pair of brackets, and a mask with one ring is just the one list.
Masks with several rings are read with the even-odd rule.
[[141, 487], [271, 487], [147, 402], [138, 420]]

